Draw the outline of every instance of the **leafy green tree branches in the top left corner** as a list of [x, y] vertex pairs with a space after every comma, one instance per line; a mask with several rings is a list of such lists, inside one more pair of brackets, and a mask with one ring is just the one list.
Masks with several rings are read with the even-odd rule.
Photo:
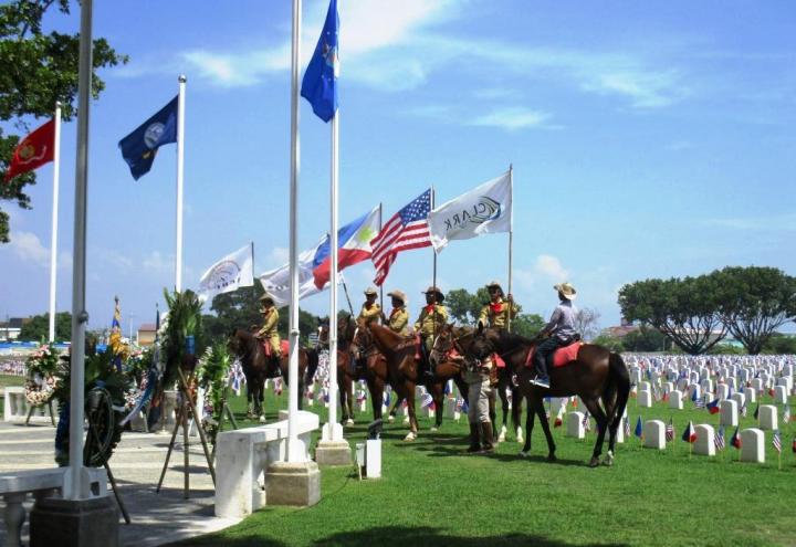
[[[62, 13], [70, 11], [70, 0], [17, 0], [0, 6], [0, 122], [13, 122], [14, 127], [9, 135], [0, 129], [0, 178], [20, 137], [31, 129], [28, 116], [52, 116], [57, 101], [63, 120], [75, 114], [80, 34], [42, 32], [42, 19], [53, 4]], [[93, 50], [94, 69], [127, 62], [103, 38], [94, 40]], [[105, 83], [93, 75], [93, 97], [98, 98], [104, 88]], [[35, 172], [30, 171], [0, 183], [0, 199], [30, 209], [24, 187], [35, 181]], [[9, 215], [0, 210], [0, 243], [9, 242]]]

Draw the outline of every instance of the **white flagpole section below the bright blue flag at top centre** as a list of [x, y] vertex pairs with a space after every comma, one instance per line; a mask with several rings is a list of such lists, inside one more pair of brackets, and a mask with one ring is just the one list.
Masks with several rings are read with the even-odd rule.
[[337, 147], [339, 138], [339, 108], [332, 118], [332, 230], [329, 246], [332, 265], [329, 267], [329, 407], [328, 423], [323, 432], [325, 441], [339, 441], [343, 428], [337, 423], [337, 173], [339, 161]]

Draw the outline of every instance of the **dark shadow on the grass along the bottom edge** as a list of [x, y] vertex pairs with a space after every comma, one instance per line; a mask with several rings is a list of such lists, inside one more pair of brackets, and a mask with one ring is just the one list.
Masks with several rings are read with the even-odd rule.
[[[209, 537], [205, 539], [197, 538], [175, 544], [175, 546], [180, 547], [205, 547], [211, 545], [223, 545], [224, 547], [287, 547], [293, 544], [284, 543], [277, 539], [270, 539], [266, 537], [259, 537], [255, 535], [251, 535], [249, 537], [231, 537], [223, 539], [218, 537]], [[410, 528], [407, 526], [380, 526], [364, 530], [342, 532], [327, 537], [312, 540], [308, 544], [304, 538], [297, 539], [295, 545], [312, 545], [313, 547], [373, 547], [374, 545], [378, 545], [379, 547], [481, 547], [485, 545], [490, 547], [513, 547], [523, 545], [534, 547], [627, 546], [627, 544], [617, 543], [569, 544], [565, 541], [558, 541], [556, 539], [549, 539], [545, 536], [537, 534], [505, 534], [500, 536], [462, 537], [450, 534], [447, 530], [422, 526], [416, 528]]]

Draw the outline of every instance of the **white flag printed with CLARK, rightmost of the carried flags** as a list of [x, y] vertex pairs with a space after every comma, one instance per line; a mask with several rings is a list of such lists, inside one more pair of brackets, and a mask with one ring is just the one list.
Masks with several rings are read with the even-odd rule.
[[451, 240], [511, 231], [510, 171], [433, 209], [428, 220], [431, 243], [437, 252]]

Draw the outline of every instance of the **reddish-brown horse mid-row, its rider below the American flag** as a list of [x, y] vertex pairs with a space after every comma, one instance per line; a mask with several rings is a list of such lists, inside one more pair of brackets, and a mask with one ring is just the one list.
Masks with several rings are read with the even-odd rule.
[[437, 431], [442, 424], [444, 385], [448, 380], [452, 379], [462, 393], [467, 392], [467, 383], [461, 379], [461, 366], [454, 360], [438, 362], [433, 381], [419, 381], [419, 367], [415, 359], [415, 338], [406, 338], [387, 327], [371, 323], [366, 327], [360, 325], [357, 328], [354, 344], [360, 347], [373, 345], [385, 357], [389, 383], [398, 395], [398, 401], [406, 399], [409, 411], [409, 433], [404, 439], [405, 441], [417, 439], [418, 421], [415, 413], [415, 388], [418, 385], [426, 386], [437, 409], [434, 415], [436, 425], [431, 428], [431, 431]]

